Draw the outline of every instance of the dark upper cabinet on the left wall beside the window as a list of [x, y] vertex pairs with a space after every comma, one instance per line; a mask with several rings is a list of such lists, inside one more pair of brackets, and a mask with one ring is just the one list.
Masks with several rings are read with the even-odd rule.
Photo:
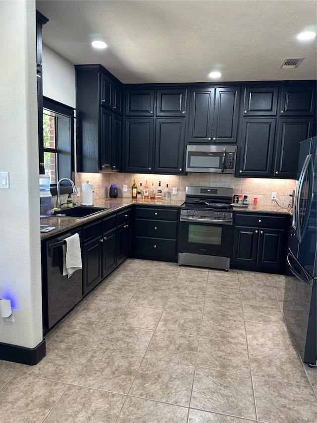
[[[120, 168], [120, 83], [101, 65], [75, 65], [77, 171]], [[115, 105], [118, 109], [114, 109]], [[120, 153], [119, 153], [120, 154]]]

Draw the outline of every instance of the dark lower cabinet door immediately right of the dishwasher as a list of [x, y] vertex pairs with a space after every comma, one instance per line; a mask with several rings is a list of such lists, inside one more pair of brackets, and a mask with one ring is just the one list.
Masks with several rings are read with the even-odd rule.
[[101, 236], [83, 247], [83, 294], [86, 295], [102, 280]]

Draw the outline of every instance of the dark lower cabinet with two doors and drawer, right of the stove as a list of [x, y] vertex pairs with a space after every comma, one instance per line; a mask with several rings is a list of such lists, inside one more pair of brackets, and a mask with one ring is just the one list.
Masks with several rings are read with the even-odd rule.
[[236, 214], [230, 266], [284, 274], [288, 225], [289, 216]]

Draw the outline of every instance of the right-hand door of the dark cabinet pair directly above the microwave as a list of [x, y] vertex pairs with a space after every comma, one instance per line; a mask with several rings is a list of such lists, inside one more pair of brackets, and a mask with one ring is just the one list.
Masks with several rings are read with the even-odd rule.
[[216, 88], [212, 141], [237, 142], [240, 88]]

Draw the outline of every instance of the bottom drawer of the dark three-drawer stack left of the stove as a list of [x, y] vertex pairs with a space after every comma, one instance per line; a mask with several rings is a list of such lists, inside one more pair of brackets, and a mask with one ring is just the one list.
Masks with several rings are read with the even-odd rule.
[[148, 255], [175, 256], [176, 241], [135, 237], [135, 252]]

